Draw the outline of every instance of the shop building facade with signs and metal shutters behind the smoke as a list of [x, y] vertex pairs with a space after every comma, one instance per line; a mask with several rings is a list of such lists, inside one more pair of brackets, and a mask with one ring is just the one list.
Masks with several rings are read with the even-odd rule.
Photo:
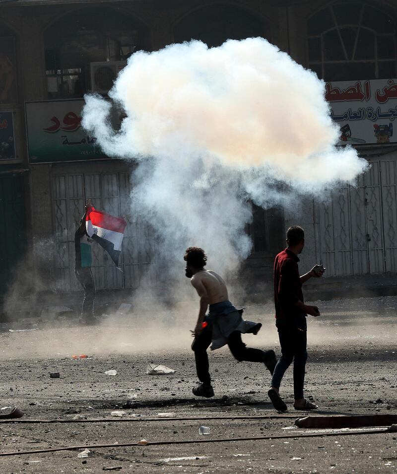
[[[88, 198], [97, 208], [128, 220], [124, 273], [96, 249], [97, 287], [156, 284], [155, 237], [134, 209], [132, 165], [103, 156], [92, 137], [81, 135], [78, 120], [83, 94], [105, 93], [131, 54], [192, 38], [212, 47], [229, 38], [262, 36], [313, 69], [330, 83], [332, 113], [340, 121], [341, 139], [357, 146], [372, 163], [357, 187], [325, 190], [321, 200], [302, 198], [298, 209], [264, 211], [253, 205], [254, 221], [247, 230], [254, 249], [246, 271], [256, 275], [271, 271], [284, 228], [292, 223], [305, 227], [310, 260], [315, 255], [330, 275], [397, 271], [397, 141], [393, 145], [388, 125], [393, 126], [397, 106], [392, 87], [397, 83], [396, 22], [394, 0], [18, 0], [2, 4], [2, 292], [22, 255], [29, 257], [33, 274], [41, 281], [66, 291], [77, 289], [73, 235]], [[343, 93], [353, 86], [357, 94], [361, 87], [382, 91], [383, 83], [390, 93], [381, 97], [388, 101], [382, 113], [390, 116], [374, 122], [380, 127], [378, 135], [372, 123], [372, 128], [367, 124], [360, 136], [354, 135], [356, 104], [352, 96], [343, 99]], [[351, 110], [351, 121], [345, 109], [337, 108], [341, 103]], [[368, 104], [363, 123], [371, 120]], [[116, 126], [118, 121], [120, 117], [115, 117]]]

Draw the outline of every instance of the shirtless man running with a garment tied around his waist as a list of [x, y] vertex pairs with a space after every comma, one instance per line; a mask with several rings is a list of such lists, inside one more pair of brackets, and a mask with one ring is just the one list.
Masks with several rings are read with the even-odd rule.
[[[260, 362], [265, 364], [270, 373], [276, 365], [273, 350], [252, 349], [246, 347], [241, 334], [258, 334], [261, 323], [245, 321], [242, 309], [237, 309], [228, 299], [227, 288], [220, 275], [212, 270], [204, 270], [206, 256], [202, 249], [189, 247], [184, 256], [186, 261], [185, 274], [191, 278], [200, 297], [199, 317], [194, 331], [195, 339], [192, 349], [195, 352], [196, 370], [201, 384], [193, 389], [198, 397], [213, 397], [214, 391], [209, 375], [207, 348], [211, 350], [227, 344], [238, 361]], [[206, 310], [209, 305], [209, 312]]]

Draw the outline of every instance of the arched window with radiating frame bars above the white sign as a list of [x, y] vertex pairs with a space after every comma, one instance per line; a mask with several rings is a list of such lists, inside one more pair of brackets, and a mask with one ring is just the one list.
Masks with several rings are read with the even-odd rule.
[[335, 3], [308, 20], [309, 67], [328, 81], [396, 77], [396, 22], [363, 2]]

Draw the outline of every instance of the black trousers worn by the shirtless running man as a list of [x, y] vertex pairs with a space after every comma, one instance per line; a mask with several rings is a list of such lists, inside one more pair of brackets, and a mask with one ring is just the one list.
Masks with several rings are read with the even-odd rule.
[[[209, 325], [203, 329], [199, 336], [195, 337], [192, 344], [192, 350], [195, 352], [197, 376], [199, 377], [199, 381], [206, 385], [211, 383], [207, 354], [207, 349], [211, 343], [211, 339], [212, 329]], [[266, 352], [262, 349], [252, 349], [247, 347], [241, 340], [240, 331], [234, 331], [229, 336], [227, 344], [234, 358], [240, 362], [243, 360], [249, 362], [265, 362]]]

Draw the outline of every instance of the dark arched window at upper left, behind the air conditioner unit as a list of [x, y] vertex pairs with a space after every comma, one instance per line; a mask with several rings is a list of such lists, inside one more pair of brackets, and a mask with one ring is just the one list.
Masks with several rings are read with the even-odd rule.
[[[118, 8], [88, 7], [63, 16], [44, 35], [48, 98], [82, 97], [90, 89], [91, 63], [122, 64], [147, 49], [145, 30]], [[111, 85], [112, 78], [101, 82]]]

